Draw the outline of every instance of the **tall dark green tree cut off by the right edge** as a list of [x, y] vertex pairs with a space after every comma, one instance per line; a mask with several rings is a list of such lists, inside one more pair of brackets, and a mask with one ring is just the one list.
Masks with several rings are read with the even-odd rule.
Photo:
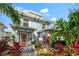
[[79, 9], [74, 9], [69, 13], [69, 27], [75, 39], [79, 38]]

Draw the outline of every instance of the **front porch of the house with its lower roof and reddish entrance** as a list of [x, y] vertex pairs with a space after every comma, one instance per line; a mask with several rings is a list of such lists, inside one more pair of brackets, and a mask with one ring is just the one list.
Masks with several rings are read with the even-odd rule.
[[[26, 26], [13, 26], [12, 28], [15, 30], [16, 35], [18, 36], [18, 42], [26, 42], [33, 39], [32, 33], [36, 30], [34, 28], [29, 28]], [[16, 39], [16, 38], [15, 38]]]

